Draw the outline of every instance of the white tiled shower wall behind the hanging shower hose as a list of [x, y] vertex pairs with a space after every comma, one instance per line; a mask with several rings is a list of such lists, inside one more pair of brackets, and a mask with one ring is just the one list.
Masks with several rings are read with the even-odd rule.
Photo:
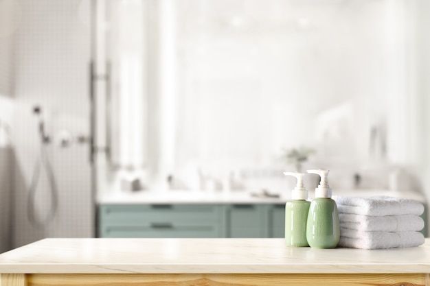
[[[32, 170], [40, 143], [32, 106], [41, 104], [52, 134], [69, 130], [89, 132], [89, 60], [91, 1], [19, 0], [21, 21], [16, 34], [14, 62], [13, 139], [14, 246], [43, 237], [93, 236], [93, 204], [88, 145], [49, 147], [60, 192], [58, 215], [47, 228], [36, 228], [25, 211]], [[41, 179], [37, 210], [46, 211], [49, 189]]]

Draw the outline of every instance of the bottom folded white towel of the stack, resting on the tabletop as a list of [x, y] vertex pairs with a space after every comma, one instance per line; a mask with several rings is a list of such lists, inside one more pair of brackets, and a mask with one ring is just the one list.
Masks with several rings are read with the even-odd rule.
[[390, 233], [341, 228], [341, 239], [338, 246], [361, 249], [408, 248], [420, 246], [424, 241], [424, 235], [418, 231]]

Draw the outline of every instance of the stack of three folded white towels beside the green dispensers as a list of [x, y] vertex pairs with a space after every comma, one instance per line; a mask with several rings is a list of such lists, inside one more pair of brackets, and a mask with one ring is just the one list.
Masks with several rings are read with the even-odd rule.
[[336, 197], [341, 239], [339, 246], [382, 249], [424, 243], [424, 206], [415, 200], [391, 197]]

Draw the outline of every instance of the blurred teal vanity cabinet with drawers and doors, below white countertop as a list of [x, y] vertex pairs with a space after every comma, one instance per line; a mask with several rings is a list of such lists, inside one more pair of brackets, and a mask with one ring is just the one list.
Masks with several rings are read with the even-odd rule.
[[284, 204], [101, 204], [99, 237], [284, 237]]

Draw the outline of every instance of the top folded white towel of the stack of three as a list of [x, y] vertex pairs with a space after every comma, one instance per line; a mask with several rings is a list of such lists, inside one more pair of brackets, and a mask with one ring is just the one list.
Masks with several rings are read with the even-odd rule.
[[339, 213], [356, 215], [422, 215], [424, 205], [416, 200], [386, 196], [370, 198], [334, 197]]

